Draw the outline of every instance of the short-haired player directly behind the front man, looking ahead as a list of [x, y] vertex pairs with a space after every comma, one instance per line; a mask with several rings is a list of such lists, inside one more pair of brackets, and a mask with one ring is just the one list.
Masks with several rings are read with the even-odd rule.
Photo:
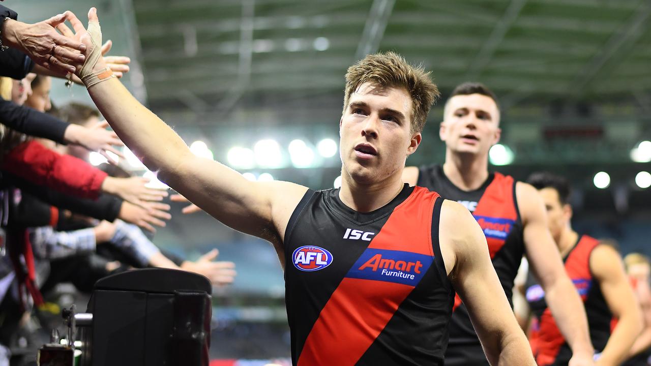
[[[546, 291], [561, 331], [574, 351], [570, 365], [592, 364], [585, 311], [547, 230], [545, 208], [536, 190], [511, 176], [489, 173], [488, 150], [499, 141], [499, 107], [492, 91], [479, 83], [456, 87], [445, 104], [439, 134], [445, 163], [407, 167], [402, 179], [458, 201], [473, 213], [488, 240], [493, 266], [508, 299], [522, 255]], [[486, 365], [468, 315], [456, 297], [445, 365]]]

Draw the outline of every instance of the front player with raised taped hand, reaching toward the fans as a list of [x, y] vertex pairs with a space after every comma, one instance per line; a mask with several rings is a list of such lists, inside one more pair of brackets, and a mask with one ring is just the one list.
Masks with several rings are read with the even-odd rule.
[[[94, 9], [89, 20], [100, 44]], [[88, 33], [73, 25], [93, 60]], [[285, 269], [294, 364], [441, 365], [452, 286], [493, 364], [534, 364], [475, 220], [460, 204], [401, 181], [437, 96], [423, 70], [395, 53], [348, 69], [342, 188], [312, 191], [250, 182], [194, 156], [101, 59], [80, 69], [104, 117], [161, 180], [230, 227], [273, 243]]]

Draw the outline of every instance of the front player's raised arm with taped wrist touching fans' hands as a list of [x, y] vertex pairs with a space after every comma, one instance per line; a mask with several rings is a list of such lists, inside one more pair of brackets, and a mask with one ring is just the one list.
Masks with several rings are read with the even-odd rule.
[[[192, 154], [186, 143], [154, 113], [141, 105], [115, 77], [105, 77], [96, 10], [89, 12], [89, 30], [71, 20], [89, 62], [77, 68], [90, 96], [113, 130], [159, 178], [230, 227], [279, 243], [296, 204], [307, 190], [288, 182], [251, 182], [240, 173]], [[96, 77], [92, 74], [96, 73]], [[94, 81], [93, 81], [94, 80]], [[90, 86], [89, 86], [90, 85]]]

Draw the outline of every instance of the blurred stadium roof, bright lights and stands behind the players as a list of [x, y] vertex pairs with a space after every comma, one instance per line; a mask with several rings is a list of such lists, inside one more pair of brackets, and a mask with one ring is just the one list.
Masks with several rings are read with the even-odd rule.
[[[492, 169], [549, 170], [574, 186], [579, 232], [651, 255], [651, 2], [648, 0], [31, 0], [19, 20], [95, 6], [122, 81], [197, 154], [250, 179], [337, 185], [344, 73], [395, 50], [432, 70], [443, 98], [408, 165], [442, 163], [445, 98], [464, 81], [497, 93], [503, 137]], [[53, 104], [90, 102], [55, 81]], [[101, 157], [100, 157], [101, 158]], [[97, 162], [100, 163], [101, 159]], [[148, 176], [133, 158], [131, 169]], [[339, 178], [340, 179], [340, 178]], [[215, 292], [215, 358], [289, 356], [283, 272], [271, 246], [206, 214], [182, 215], [156, 244], [213, 247], [237, 264]], [[266, 361], [265, 361], [266, 362]], [[284, 361], [277, 361], [278, 363]], [[242, 363], [244, 364], [244, 363]], [[249, 364], [255, 364], [250, 361]]]

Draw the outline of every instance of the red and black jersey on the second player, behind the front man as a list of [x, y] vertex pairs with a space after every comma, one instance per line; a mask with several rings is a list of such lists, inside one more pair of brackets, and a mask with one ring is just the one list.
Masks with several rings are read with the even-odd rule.
[[[417, 185], [437, 191], [444, 199], [457, 201], [473, 213], [486, 236], [497, 277], [511, 302], [513, 282], [524, 253], [515, 180], [491, 173], [477, 190], [463, 191], [450, 182], [443, 167], [430, 165], [419, 169]], [[458, 296], [454, 299], [445, 365], [488, 365], [468, 311]]]

